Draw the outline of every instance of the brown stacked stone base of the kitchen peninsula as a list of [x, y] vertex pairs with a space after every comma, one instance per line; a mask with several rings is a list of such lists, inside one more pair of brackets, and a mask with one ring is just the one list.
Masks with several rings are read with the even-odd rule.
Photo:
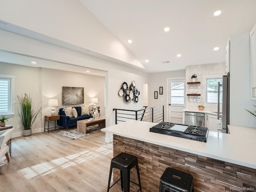
[[[167, 167], [193, 176], [194, 192], [256, 191], [256, 169], [183, 152], [140, 140], [114, 135], [113, 156], [121, 152], [138, 158], [142, 191], [159, 192], [160, 177]], [[235, 150], [235, 149], [234, 149]], [[114, 170], [114, 181], [120, 172]], [[136, 169], [131, 180], [138, 181]], [[133, 185], [131, 192], [138, 186]]]

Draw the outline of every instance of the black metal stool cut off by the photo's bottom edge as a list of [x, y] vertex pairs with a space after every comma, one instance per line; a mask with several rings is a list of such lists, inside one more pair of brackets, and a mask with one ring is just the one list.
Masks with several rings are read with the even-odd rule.
[[159, 192], [194, 192], [193, 176], [168, 167], [160, 178]]

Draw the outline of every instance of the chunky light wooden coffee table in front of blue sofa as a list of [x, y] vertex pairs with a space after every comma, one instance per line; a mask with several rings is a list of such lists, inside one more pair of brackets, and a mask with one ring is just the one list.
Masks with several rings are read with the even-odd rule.
[[88, 120], [89, 119], [77, 121], [77, 128], [76, 128], [77, 132], [86, 134], [86, 128], [92, 125], [99, 125], [99, 126], [102, 126], [102, 128], [106, 127], [105, 118], [96, 117], [95, 120], [92, 120], [92, 121], [88, 121]]

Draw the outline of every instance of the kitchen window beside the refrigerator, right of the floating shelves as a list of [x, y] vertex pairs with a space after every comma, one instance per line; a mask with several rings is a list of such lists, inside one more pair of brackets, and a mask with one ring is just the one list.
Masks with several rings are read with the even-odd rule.
[[[222, 78], [206, 79], [206, 102], [207, 103], [218, 103], [218, 82], [222, 84]], [[222, 98], [222, 95], [220, 95], [220, 98]]]

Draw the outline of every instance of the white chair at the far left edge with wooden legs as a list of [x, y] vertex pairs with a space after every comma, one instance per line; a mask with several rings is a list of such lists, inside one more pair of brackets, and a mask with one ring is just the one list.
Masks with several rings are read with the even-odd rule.
[[10, 162], [8, 147], [12, 138], [13, 128], [0, 131], [0, 159], [5, 155]]

